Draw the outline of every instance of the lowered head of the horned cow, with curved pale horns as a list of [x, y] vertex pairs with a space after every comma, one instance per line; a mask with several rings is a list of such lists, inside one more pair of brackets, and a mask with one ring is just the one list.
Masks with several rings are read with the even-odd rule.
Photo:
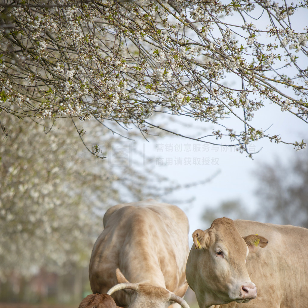
[[148, 283], [128, 282], [119, 269], [116, 269], [116, 277], [119, 284], [112, 287], [107, 294], [111, 295], [116, 291], [124, 290], [129, 295], [129, 308], [167, 308], [173, 302], [177, 302], [183, 308], [189, 308], [182, 298], [188, 288], [187, 282], [172, 293], [165, 288]]

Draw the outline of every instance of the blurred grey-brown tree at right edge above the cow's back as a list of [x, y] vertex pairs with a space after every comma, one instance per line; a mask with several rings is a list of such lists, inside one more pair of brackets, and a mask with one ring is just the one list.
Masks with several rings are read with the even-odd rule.
[[260, 216], [266, 222], [308, 228], [308, 163], [306, 153], [284, 164], [275, 160], [256, 170]]

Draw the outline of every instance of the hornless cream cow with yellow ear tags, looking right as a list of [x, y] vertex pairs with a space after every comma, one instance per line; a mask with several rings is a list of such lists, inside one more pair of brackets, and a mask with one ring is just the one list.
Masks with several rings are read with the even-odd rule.
[[305, 228], [218, 218], [193, 233], [188, 285], [200, 308], [307, 308], [306, 240]]

